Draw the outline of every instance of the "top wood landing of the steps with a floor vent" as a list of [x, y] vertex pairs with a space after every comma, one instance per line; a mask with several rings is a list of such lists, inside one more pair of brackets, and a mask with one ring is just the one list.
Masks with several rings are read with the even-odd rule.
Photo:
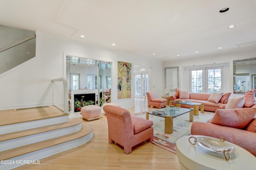
[[55, 106], [35, 109], [24, 109], [18, 111], [15, 111], [15, 109], [0, 110], [0, 126], [66, 115], [69, 114], [64, 114], [63, 111], [61, 111]]

